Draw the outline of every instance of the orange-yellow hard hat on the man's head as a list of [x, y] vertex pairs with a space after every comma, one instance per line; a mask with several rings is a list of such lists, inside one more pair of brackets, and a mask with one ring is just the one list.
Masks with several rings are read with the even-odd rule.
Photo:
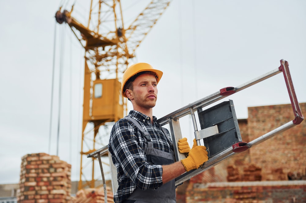
[[127, 97], [125, 92], [123, 91], [125, 83], [134, 75], [137, 73], [143, 72], [143, 71], [152, 71], [156, 73], [156, 82], [158, 83], [160, 81], [160, 78], [162, 77], [162, 71], [154, 69], [150, 64], [148, 63], [135, 63], [132, 66], [128, 67], [122, 76], [122, 82], [121, 82], [121, 94], [124, 97]]

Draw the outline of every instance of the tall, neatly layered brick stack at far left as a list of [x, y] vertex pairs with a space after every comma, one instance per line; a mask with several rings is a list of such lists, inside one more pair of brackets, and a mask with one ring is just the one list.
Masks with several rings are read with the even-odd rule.
[[21, 158], [18, 203], [71, 203], [71, 165], [46, 153]]

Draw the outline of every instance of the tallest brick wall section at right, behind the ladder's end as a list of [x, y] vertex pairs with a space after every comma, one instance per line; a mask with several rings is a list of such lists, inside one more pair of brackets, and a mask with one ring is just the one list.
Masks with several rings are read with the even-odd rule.
[[[300, 104], [302, 113], [306, 103]], [[294, 119], [291, 104], [248, 108], [248, 136], [250, 140]], [[251, 163], [264, 169], [263, 180], [273, 180], [273, 172], [304, 173], [306, 168], [306, 122], [276, 135], [250, 149]]]

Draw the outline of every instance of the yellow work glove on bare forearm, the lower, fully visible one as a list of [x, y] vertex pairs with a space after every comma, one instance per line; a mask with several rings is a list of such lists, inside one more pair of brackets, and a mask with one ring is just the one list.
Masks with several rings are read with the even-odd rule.
[[205, 146], [194, 146], [189, 152], [189, 156], [182, 159], [181, 162], [184, 165], [186, 171], [192, 169], [198, 169], [203, 166], [203, 163], [208, 160], [207, 151]]

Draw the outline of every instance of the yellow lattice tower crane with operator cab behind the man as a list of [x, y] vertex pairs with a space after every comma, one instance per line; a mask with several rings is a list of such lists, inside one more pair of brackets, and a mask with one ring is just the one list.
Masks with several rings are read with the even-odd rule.
[[[95, 187], [95, 158], [92, 158], [90, 180], [86, 179], [83, 171], [83, 158], [96, 150], [96, 135], [100, 126], [116, 122], [127, 113], [126, 100], [120, 92], [122, 74], [130, 59], [135, 57], [136, 48], [170, 2], [152, 0], [128, 28], [124, 25], [120, 0], [91, 0], [87, 25], [73, 18], [73, 6], [71, 11], [60, 8], [55, 14], [56, 21], [68, 24], [85, 49], [79, 190]], [[93, 126], [93, 137], [92, 133], [85, 132], [88, 123]]]

